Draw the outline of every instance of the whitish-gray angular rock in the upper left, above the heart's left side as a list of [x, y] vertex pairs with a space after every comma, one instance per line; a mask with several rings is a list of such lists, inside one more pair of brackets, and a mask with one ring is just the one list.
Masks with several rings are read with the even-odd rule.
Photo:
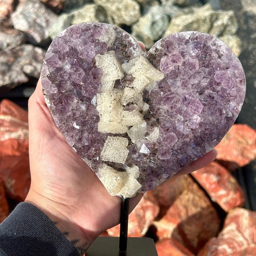
[[41, 44], [48, 37], [48, 29], [57, 19], [57, 15], [37, 0], [20, 2], [11, 15], [13, 27], [26, 32], [28, 42]]

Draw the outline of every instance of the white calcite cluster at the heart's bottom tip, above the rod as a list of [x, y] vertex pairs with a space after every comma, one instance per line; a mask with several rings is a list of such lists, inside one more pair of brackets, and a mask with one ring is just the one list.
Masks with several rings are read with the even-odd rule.
[[132, 197], [140, 189], [141, 184], [136, 180], [140, 174], [139, 168], [129, 168], [127, 172], [118, 172], [103, 164], [99, 168], [100, 181], [111, 196]]

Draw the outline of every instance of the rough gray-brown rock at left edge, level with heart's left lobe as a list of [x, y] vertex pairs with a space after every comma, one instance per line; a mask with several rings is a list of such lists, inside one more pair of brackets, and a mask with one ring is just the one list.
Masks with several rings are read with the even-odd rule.
[[28, 77], [39, 78], [45, 51], [32, 44], [22, 44], [0, 51], [0, 88], [11, 89], [28, 82]]

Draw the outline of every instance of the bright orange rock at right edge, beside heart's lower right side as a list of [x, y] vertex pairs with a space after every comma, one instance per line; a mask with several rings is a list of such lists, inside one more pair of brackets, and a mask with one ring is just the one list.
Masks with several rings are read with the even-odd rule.
[[239, 166], [249, 164], [256, 157], [256, 131], [247, 124], [234, 124], [216, 146], [218, 160]]

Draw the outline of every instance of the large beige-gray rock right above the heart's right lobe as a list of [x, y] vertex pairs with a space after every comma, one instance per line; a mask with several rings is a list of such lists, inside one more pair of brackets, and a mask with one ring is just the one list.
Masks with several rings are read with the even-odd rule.
[[237, 22], [233, 11], [214, 11], [210, 4], [192, 8], [192, 13], [174, 16], [164, 36], [181, 31], [199, 31], [213, 36], [235, 34]]

